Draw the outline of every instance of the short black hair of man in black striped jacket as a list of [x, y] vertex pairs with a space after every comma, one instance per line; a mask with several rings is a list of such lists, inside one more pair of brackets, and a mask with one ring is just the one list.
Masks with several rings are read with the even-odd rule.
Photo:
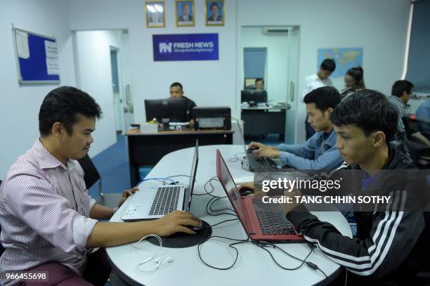
[[336, 126], [355, 124], [369, 136], [382, 131], [386, 142], [393, 139], [397, 131], [398, 112], [384, 94], [370, 89], [361, 89], [342, 101], [330, 115]]

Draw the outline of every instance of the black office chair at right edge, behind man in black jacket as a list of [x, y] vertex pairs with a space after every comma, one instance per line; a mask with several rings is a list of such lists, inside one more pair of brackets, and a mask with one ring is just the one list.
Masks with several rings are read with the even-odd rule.
[[423, 126], [430, 126], [430, 121], [416, 115], [402, 117], [405, 125], [405, 147], [410, 158], [419, 169], [430, 169], [430, 141], [426, 134], [419, 130], [424, 130]]

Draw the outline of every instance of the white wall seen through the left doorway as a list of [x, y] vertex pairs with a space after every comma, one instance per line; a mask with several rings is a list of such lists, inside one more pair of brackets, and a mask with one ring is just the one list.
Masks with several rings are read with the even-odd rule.
[[121, 51], [121, 31], [75, 32], [73, 39], [77, 86], [93, 96], [103, 111], [89, 152], [94, 156], [117, 142], [110, 46]]

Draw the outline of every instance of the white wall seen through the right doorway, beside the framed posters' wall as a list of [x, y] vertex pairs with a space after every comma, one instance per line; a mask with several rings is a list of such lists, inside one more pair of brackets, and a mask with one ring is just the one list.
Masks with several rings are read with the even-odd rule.
[[241, 55], [243, 48], [267, 48], [264, 89], [268, 100], [287, 101], [288, 35], [263, 34], [261, 27], [242, 27], [240, 31]]

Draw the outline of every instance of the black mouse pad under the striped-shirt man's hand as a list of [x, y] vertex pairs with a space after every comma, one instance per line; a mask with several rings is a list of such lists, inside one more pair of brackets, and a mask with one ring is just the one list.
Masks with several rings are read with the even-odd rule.
[[[202, 221], [202, 229], [193, 230], [196, 234], [189, 235], [187, 233], [174, 233], [173, 235], [162, 238], [163, 247], [168, 248], [184, 248], [199, 245], [211, 237], [212, 228], [209, 223]], [[159, 245], [157, 238], [148, 238], [148, 241], [153, 245]]]

